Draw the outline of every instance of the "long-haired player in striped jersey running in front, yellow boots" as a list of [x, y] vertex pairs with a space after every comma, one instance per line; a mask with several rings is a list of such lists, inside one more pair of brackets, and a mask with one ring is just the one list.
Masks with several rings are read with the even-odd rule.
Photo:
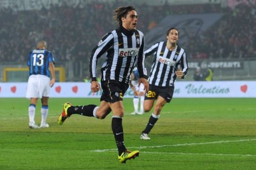
[[[94, 116], [103, 119], [113, 112], [111, 127], [115, 137], [118, 160], [125, 163], [139, 155], [139, 151], [128, 151], [124, 145], [122, 119], [124, 116], [123, 95], [129, 87], [130, 74], [138, 67], [139, 84], [143, 83], [146, 90], [149, 84], [144, 66], [144, 36], [136, 29], [138, 22], [137, 11], [132, 6], [118, 7], [114, 18], [119, 25], [114, 31], [107, 33], [92, 50], [90, 58], [91, 90], [97, 92], [102, 88], [100, 106], [72, 106], [63, 104], [63, 112], [58, 123], [62, 124], [72, 114]], [[101, 67], [101, 88], [97, 82], [96, 67], [100, 56], [107, 53], [107, 60]]]

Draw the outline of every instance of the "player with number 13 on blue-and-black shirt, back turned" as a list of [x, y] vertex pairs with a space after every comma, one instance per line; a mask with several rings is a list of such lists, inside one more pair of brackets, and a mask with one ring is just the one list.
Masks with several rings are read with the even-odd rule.
[[[55, 83], [55, 69], [52, 53], [48, 50], [46, 41], [39, 41], [36, 49], [28, 55], [27, 65], [29, 67], [29, 78], [26, 98], [30, 98], [28, 107], [29, 128], [48, 128], [46, 118], [49, 112], [48, 99], [50, 87]], [[49, 72], [50, 70], [50, 72]], [[50, 80], [51, 73], [51, 80]], [[41, 125], [35, 123], [35, 112], [37, 99], [41, 98]]]

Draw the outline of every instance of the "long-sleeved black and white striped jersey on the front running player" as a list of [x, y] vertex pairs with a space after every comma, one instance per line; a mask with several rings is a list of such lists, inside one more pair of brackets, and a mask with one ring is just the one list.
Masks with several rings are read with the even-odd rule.
[[130, 74], [138, 67], [140, 78], [147, 79], [144, 65], [144, 35], [141, 31], [129, 31], [123, 27], [108, 32], [92, 50], [90, 58], [91, 81], [97, 78], [96, 67], [98, 58], [107, 53], [107, 60], [101, 67], [101, 80], [116, 80], [129, 83]]

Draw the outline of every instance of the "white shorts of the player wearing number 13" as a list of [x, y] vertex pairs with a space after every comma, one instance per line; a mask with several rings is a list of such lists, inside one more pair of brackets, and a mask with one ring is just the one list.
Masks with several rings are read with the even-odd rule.
[[46, 75], [30, 75], [26, 98], [42, 98], [50, 95], [50, 78]]

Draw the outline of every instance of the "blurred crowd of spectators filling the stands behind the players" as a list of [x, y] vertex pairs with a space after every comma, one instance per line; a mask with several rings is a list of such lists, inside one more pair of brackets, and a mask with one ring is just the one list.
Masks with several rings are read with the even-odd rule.
[[[122, 4], [130, 5], [126, 2]], [[92, 1], [83, 7], [52, 5], [49, 9], [18, 11], [0, 8], [0, 61], [21, 62], [35, 42], [44, 39], [56, 61], [89, 60], [91, 50], [103, 33], [116, 28], [111, 19], [118, 1]], [[234, 9], [217, 4], [134, 5], [139, 14], [138, 29], [146, 33], [170, 14], [223, 13], [206, 32], [191, 36], [183, 45], [190, 59], [241, 58], [256, 55], [256, 16], [253, 6], [240, 4]]]

